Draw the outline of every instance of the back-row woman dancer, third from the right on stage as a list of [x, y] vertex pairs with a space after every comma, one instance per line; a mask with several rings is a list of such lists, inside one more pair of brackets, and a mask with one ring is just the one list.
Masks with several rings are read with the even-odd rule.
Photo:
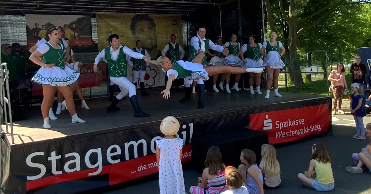
[[[231, 36], [231, 42], [226, 42], [223, 47], [228, 48], [229, 54], [224, 58], [224, 63], [229, 66], [236, 66], [236, 67], [241, 67], [243, 62], [239, 58], [240, 53], [241, 53], [241, 45], [240, 43], [236, 42], [237, 41], [237, 36], [233, 34]], [[219, 87], [223, 90], [223, 83], [226, 81], [226, 91], [227, 93], [231, 93], [229, 90], [229, 80], [230, 80], [231, 74], [223, 74], [220, 80]], [[234, 82], [233, 88], [236, 91], [240, 91], [238, 89], [238, 82], [240, 81], [241, 74], [236, 75], [236, 80]]]

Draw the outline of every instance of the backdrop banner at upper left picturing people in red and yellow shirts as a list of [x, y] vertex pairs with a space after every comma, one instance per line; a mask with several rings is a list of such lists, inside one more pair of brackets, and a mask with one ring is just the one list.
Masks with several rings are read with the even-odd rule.
[[93, 45], [90, 16], [26, 14], [27, 45], [35, 45], [49, 28], [59, 26], [61, 38], [70, 39], [70, 46]]

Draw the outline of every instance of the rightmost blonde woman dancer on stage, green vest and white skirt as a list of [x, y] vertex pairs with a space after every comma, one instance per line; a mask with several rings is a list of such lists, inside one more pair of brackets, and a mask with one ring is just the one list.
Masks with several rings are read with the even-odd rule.
[[265, 67], [265, 71], [267, 72], [267, 94], [265, 98], [269, 98], [272, 80], [275, 96], [282, 97], [278, 93], [278, 76], [281, 68], [285, 67], [285, 64], [281, 60], [281, 56], [285, 53], [285, 47], [282, 46], [280, 41], [276, 41], [276, 38], [276, 32], [271, 32], [269, 34], [269, 41], [263, 42], [262, 49], [260, 50], [260, 54], [264, 55], [263, 67]]

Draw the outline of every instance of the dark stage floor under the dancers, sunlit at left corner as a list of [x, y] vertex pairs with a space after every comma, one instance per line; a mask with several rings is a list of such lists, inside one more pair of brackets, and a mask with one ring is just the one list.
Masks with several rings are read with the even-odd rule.
[[[191, 100], [185, 103], [179, 103], [180, 98], [184, 96], [184, 92], [171, 93], [169, 99], [164, 99], [162, 98], [162, 94], [160, 94], [161, 91], [162, 89], [148, 90], [151, 95], [145, 97], [141, 97], [140, 92], [137, 91], [139, 104], [142, 110], [151, 114], [151, 117], [145, 118], [134, 118], [134, 109], [131, 106], [128, 96], [126, 100], [121, 100], [118, 104], [118, 107], [121, 108], [120, 111], [109, 113], [106, 111], [111, 103], [108, 101], [108, 97], [86, 100], [90, 107], [89, 110], [82, 109], [79, 101], [76, 101], [77, 113], [80, 118], [86, 120], [86, 123], [71, 123], [71, 117], [68, 111], [64, 110], [60, 115], [56, 115], [58, 120], [50, 120], [52, 129], [43, 129], [40, 106], [27, 108], [24, 113], [24, 119], [14, 122], [14, 143], [34, 142], [115, 127], [161, 121], [164, 117], [169, 115], [174, 117], [193, 116], [241, 109], [243, 107], [249, 109], [254, 106], [270, 106], [277, 103], [305, 101], [325, 97], [312, 94], [284, 93], [280, 91], [283, 97], [274, 97], [273, 92], [271, 92], [271, 97], [265, 99], [265, 94], [250, 94], [249, 90], [239, 93], [232, 92], [231, 94], [207, 91], [206, 108], [198, 110], [196, 109], [198, 101], [197, 93], [192, 94]], [[55, 110], [56, 106], [54, 107], [54, 112]], [[5, 126], [3, 126], [3, 129], [5, 129]], [[8, 138], [10, 139], [10, 136], [8, 136]]]

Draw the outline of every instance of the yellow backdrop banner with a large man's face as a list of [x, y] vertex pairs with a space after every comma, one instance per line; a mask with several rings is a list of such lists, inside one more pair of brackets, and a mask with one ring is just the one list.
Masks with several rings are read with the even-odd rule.
[[[106, 48], [111, 34], [120, 36], [120, 43], [135, 48], [135, 41], [142, 41], [152, 59], [161, 56], [164, 46], [175, 34], [176, 42], [183, 47], [180, 15], [164, 14], [96, 14], [99, 51]], [[184, 47], [183, 47], [184, 48]]]

